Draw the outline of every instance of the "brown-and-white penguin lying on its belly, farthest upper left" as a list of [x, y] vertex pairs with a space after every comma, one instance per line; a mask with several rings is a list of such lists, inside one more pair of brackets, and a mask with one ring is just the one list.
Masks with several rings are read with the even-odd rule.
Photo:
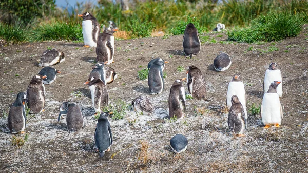
[[40, 67], [47, 67], [62, 63], [64, 60], [64, 53], [60, 49], [50, 49], [43, 52], [38, 65]]

